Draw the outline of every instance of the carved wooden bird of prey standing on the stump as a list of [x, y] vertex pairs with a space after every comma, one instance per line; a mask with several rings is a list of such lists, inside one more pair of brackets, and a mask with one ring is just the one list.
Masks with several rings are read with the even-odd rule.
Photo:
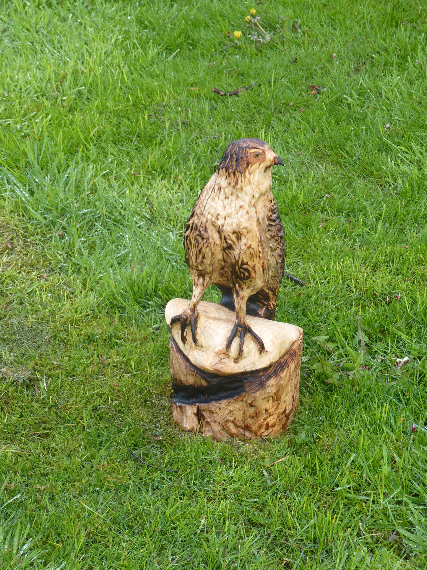
[[171, 319], [171, 325], [180, 322], [183, 343], [188, 325], [197, 343], [197, 306], [206, 288], [215, 284], [221, 304], [236, 311], [225, 350], [239, 335], [243, 356], [246, 333], [260, 352], [265, 350], [246, 315], [274, 319], [284, 274], [284, 231], [271, 191], [272, 166], [277, 164], [283, 165], [281, 158], [264, 141], [240, 139], [228, 145], [200, 193], [184, 235], [192, 298], [188, 308]]

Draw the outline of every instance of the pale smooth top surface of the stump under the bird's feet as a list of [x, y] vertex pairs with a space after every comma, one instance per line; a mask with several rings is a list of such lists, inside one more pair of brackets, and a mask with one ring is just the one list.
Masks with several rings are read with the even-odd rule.
[[225, 351], [225, 343], [235, 324], [235, 312], [218, 303], [201, 301], [198, 305], [199, 319], [196, 331], [198, 343], [193, 343], [190, 327], [188, 327], [187, 340], [183, 344], [180, 324], [176, 323], [171, 327], [170, 321], [175, 315], [181, 314], [188, 304], [190, 302], [186, 299], [170, 300], [165, 309], [166, 323], [183, 354], [192, 364], [205, 372], [232, 376], [266, 368], [280, 359], [302, 338], [302, 329], [295, 325], [247, 315], [248, 324], [264, 341], [265, 351], [260, 354], [251, 335], [247, 333], [243, 356], [238, 358], [239, 339], [237, 337], [233, 340], [230, 350]]

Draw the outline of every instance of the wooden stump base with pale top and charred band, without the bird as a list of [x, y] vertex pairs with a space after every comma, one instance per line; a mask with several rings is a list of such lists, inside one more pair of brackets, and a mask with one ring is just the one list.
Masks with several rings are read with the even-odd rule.
[[174, 421], [183, 430], [219, 440], [230, 435], [277, 436], [298, 407], [302, 329], [247, 316], [248, 324], [264, 341], [265, 351], [260, 354], [247, 333], [239, 358], [237, 337], [225, 351], [235, 312], [217, 303], [199, 303], [198, 343], [192, 342], [190, 327], [182, 343], [179, 323], [171, 327], [170, 321], [188, 304], [185, 299], [173, 299], [165, 310]]

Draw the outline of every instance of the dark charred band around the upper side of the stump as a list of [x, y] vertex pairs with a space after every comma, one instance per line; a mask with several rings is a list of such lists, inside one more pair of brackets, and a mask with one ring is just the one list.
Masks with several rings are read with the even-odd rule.
[[172, 389], [175, 393], [175, 404], [210, 404], [221, 400], [229, 400], [243, 394], [259, 392], [270, 380], [280, 376], [286, 368], [294, 363], [301, 349], [295, 346], [296, 340], [288, 351], [275, 363], [266, 368], [259, 368], [249, 372], [234, 374], [233, 376], [221, 376], [212, 372], [205, 372], [190, 362], [187, 356], [179, 348], [171, 328], [169, 328], [170, 348], [175, 352], [175, 358], [182, 361], [185, 367], [194, 377], [196, 385], [183, 384], [174, 374], [171, 367]]

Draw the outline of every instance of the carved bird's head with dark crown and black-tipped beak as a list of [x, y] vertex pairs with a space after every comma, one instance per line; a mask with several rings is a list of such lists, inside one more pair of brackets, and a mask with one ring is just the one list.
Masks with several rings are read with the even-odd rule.
[[225, 170], [228, 177], [238, 183], [246, 172], [255, 177], [265, 174], [271, 177], [275, 164], [284, 165], [267, 143], [261, 139], [239, 139], [227, 146], [217, 170]]

